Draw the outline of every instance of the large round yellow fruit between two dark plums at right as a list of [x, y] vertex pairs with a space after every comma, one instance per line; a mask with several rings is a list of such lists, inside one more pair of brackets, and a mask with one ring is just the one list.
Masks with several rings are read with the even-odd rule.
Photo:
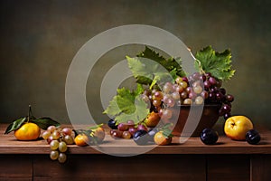
[[226, 120], [224, 126], [225, 134], [235, 140], [245, 140], [249, 129], [253, 129], [253, 124], [245, 116], [232, 116]]

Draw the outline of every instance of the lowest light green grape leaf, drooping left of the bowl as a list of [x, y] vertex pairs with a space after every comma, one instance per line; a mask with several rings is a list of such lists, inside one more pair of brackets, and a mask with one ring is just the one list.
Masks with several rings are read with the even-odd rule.
[[107, 110], [103, 113], [115, 117], [117, 123], [126, 122], [129, 119], [138, 123], [145, 119], [149, 109], [147, 109], [145, 101], [139, 98], [143, 90], [141, 84], [137, 84], [134, 91], [126, 88], [117, 89], [117, 95], [109, 102]]

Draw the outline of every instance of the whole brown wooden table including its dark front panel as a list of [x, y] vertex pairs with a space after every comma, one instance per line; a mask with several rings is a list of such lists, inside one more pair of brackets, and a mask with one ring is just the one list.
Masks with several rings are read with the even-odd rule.
[[136, 146], [130, 139], [107, 135], [99, 147], [69, 146], [65, 164], [51, 161], [45, 140], [18, 141], [13, 133], [4, 135], [0, 125], [0, 180], [271, 180], [271, 131], [261, 131], [259, 145], [233, 141], [220, 136], [218, 144], [206, 146], [200, 138], [180, 144], [173, 138], [170, 146]]

